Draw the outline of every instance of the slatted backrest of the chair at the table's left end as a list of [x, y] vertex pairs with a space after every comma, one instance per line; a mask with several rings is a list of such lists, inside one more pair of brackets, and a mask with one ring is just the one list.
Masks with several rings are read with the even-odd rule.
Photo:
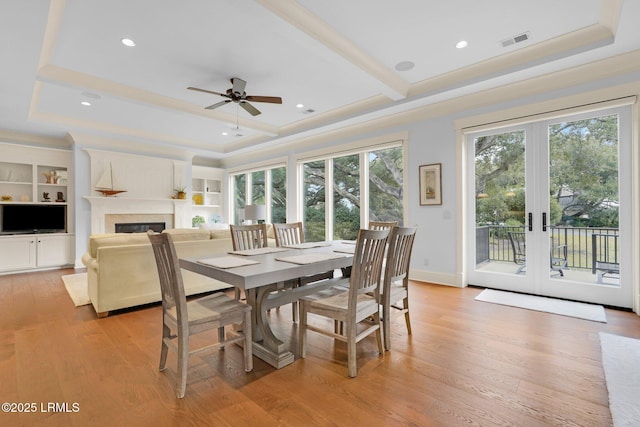
[[[162, 292], [162, 311], [167, 312], [176, 308], [178, 323], [186, 326], [187, 322], [187, 299], [184, 292], [182, 272], [180, 262], [176, 253], [173, 239], [169, 233], [154, 233], [147, 231], [153, 255], [156, 258], [158, 268], [158, 279], [160, 279], [160, 290]], [[185, 314], [183, 316], [183, 313]]]

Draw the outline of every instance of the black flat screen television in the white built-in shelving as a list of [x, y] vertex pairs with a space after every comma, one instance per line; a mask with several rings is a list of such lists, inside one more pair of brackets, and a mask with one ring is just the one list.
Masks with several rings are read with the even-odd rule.
[[11, 233], [60, 233], [67, 231], [66, 205], [1, 205], [0, 231]]

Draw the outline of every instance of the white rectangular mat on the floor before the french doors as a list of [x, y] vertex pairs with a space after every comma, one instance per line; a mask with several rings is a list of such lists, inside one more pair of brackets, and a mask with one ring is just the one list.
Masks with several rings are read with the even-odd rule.
[[480, 292], [476, 300], [607, 323], [604, 307], [596, 304], [565, 301], [556, 298], [519, 294], [516, 292], [496, 291], [493, 289], [485, 289]]

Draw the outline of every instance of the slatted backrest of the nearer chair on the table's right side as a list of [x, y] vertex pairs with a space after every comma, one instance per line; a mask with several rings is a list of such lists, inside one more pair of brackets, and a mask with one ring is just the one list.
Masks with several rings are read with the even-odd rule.
[[389, 229], [358, 232], [349, 279], [349, 310], [354, 315], [358, 295], [372, 292], [379, 299], [382, 262], [390, 232]]

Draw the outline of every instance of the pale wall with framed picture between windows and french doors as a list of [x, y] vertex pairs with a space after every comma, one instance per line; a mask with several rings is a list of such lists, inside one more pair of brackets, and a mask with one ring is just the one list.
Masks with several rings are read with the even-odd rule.
[[[553, 77], [550, 77], [553, 81]], [[363, 141], [368, 139], [380, 139], [384, 135], [393, 135], [398, 132], [408, 132], [408, 164], [409, 182], [405, 191], [409, 194], [408, 224], [418, 226], [418, 238], [414, 244], [414, 250], [411, 262], [411, 277], [417, 280], [424, 280], [434, 283], [442, 283], [455, 286], [464, 286], [462, 281], [462, 268], [458, 262], [459, 248], [459, 230], [458, 217], [462, 215], [461, 207], [458, 206], [458, 186], [460, 184], [460, 171], [457, 170], [457, 146], [459, 141], [456, 139], [456, 120], [468, 117], [484, 115], [495, 111], [511, 111], [520, 106], [526, 106], [534, 103], [549, 102], [550, 109], [553, 109], [553, 100], [567, 97], [574, 94], [588, 94], [594, 91], [606, 94], [607, 88], [623, 85], [625, 83], [640, 84], [640, 73], [631, 73], [617, 78], [609, 78], [605, 80], [592, 81], [586, 84], [567, 86], [561, 89], [555, 89], [545, 92], [540, 87], [539, 92], [535, 90], [524, 91], [533, 93], [527, 97], [519, 98], [517, 92], [507, 93], [504, 96], [506, 100], [498, 100], [491, 102], [491, 91], [484, 94], [487, 100], [478, 98], [483, 95], [473, 95], [471, 101], [467, 102], [467, 98], [461, 97], [454, 102], [443, 102], [442, 106], [432, 105], [422, 107], [416, 111], [407, 113], [409, 118], [398, 117], [397, 122], [402, 124], [394, 124], [389, 122], [387, 126], [381, 125], [384, 120], [378, 120], [372, 123], [370, 128], [374, 131], [368, 131], [369, 127], [362, 126], [362, 131], [357, 133], [353, 129], [345, 129], [344, 133], [349, 133], [347, 138], [340, 138], [339, 133], [334, 133], [329, 138], [318, 138], [319, 144], [310, 145], [305, 142], [305, 148], [298, 148], [296, 156], [300, 156], [305, 151], [317, 150], [319, 147], [334, 147], [333, 151], [339, 151], [339, 147], [345, 144], [351, 144], [354, 141]], [[557, 82], [554, 82], [557, 83]], [[537, 84], [532, 82], [531, 84]], [[632, 85], [633, 86], [633, 85]], [[602, 89], [605, 89], [604, 91]], [[508, 91], [507, 91], [508, 92]], [[627, 93], [633, 95], [634, 93]], [[600, 95], [602, 96], [602, 95]], [[606, 95], [605, 95], [606, 96]], [[617, 96], [612, 95], [612, 96]], [[589, 98], [588, 96], [586, 97]], [[577, 101], [580, 102], [580, 101]], [[586, 102], [586, 101], [585, 101]], [[468, 105], [482, 105], [477, 108], [467, 108]], [[421, 117], [422, 116], [422, 117]], [[637, 133], [637, 132], [636, 132]], [[308, 147], [308, 148], [306, 148]], [[261, 156], [262, 161], [267, 161], [272, 154], [273, 158], [281, 157], [283, 154], [288, 155], [291, 159], [293, 153], [290, 151], [272, 151]], [[247, 159], [249, 156], [244, 156]], [[234, 168], [239, 167], [244, 159], [236, 160], [233, 164]], [[233, 162], [232, 160], [232, 162]], [[244, 161], [247, 167], [250, 163]], [[418, 199], [418, 167], [424, 164], [442, 163], [442, 206], [420, 206]], [[295, 166], [295, 162], [289, 161], [290, 168]], [[291, 191], [291, 183], [295, 180], [289, 177]], [[634, 194], [638, 197], [638, 194]], [[289, 206], [288, 211], [291, 213], [294, 207]], [[425, 265], [426, 264], [426, 265]]]

